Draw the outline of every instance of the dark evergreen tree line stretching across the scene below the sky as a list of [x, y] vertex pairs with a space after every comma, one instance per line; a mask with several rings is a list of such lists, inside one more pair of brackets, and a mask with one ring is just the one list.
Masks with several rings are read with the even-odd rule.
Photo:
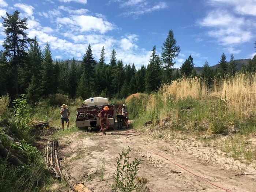
[[[125, 98], [137, 92], [151, 93], [158, 90], [161, 83], [169, 83], [181, 76], [202, 76], [210, 85], [214, 76], [223, 78], [237, 72], [233, 54], [227, 62], [224, 53], [214, 71], [206, 61], [202, 73], [197, 74], [191, 55], [180, 69], [175, 69], [180, 47], [176, 45], [172, 30], [162, 45], [161, 56], [153, 46], [147, 66], [142, 65], [138, 70], [134, 63], [124, 65], [122, 60], [117, 60], [115, 49], [110, 53], [108, 64], [104, 47], [96, 61], [90, 44], [81, 64], [77, 65], [73, 58], [68, 65], [67, 61], [53, 61], [49, 43], [41, 50], [36, 37], [27, 37], [27, 19], [21, 19], [18, 11], [2, 18], [6, 37], [4, 50], [0, 51], [0, 95], [8, 93], [12, 98], [23, 93], [32, 102], [54, 93], [83, 99], [95, 96]], [[242, 72], [256, 72], [256, 56], [242, 67]]]

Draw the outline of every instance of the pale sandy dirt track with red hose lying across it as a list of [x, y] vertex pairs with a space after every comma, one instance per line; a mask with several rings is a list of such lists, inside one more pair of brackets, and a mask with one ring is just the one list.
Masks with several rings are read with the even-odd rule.
[[[146, 148], [133, 146], [131, 143], [144, 145], [155, 153], [163, 155], [170, 161], [230, 191], [256, 191], [256, 176], [235, 176], [242, 172], [255, 174], [253, 165], [246, 165], [224, 157], [221, 151], [204, 147], [195, 140], [179, 136], [177, 139], [162, 141], [143, 134], [126, 138], [126, 136], [111, 134], [114, 131], [107, 133], [105, 136], [98, 136], [96, 133], [78, 132], [59, 140], [61, 148], [59, 157], [63, 158], [62, 167], [76, 180], [84, 182], [84, 185], [92, 191], [111, 191], [116, 157], [123, 147], [128, 146], [132, 148], [131, 157], [143, 160], [138, 176], [149, 180], [146, 185], [151, 192], [224, 191], [193, 176]], [[103, 181], [100, 181], [97, 172], [102, 164], [101, 157], [104, 157], [107, 162]]]

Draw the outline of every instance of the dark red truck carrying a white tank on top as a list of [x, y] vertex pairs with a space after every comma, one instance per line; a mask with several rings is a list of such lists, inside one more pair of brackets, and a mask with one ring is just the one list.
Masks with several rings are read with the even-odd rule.
[[93, 97], [84, 101], [83, 106], [77, 109], [76, 127], [85, 130], [88, 130], [89, 127], [99, 128], [100, 120], [98, 114], [105, 106], [109, 107], [109, 127], [114, 127], [116, 118], [115, 106], [109, 103], [108, 98], [103, 97]]

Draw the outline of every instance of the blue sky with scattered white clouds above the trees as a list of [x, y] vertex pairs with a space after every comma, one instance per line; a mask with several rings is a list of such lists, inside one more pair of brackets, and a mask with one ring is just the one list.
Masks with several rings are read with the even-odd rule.
[[170, 29], [181, 48], [176, 67], [190, 54], [195, 66], [215, 65], [222, 53], [228, 60], [255, 54], [256, 0], [0, 0], [0, 15], [15, 10], [55, 59], [82, 59], [90, 43], [95, 59], [105, 46], [107, 63], [114, 48], [117, 59], [139, 68], [154, 45], [161, 53]]

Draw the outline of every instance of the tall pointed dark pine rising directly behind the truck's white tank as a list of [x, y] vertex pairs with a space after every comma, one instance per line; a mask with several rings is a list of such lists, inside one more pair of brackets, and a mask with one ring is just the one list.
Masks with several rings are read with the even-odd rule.
[[[94, 93], [95, 87], [95, 69], [94, 66], [96, 65], [96, 61], [93, 57], [93, 50], [91, 49], [91, 45], [89, 44], [88, 48], [86, 49], [86, 54], [83, 57], [82, 61], [83, 65], [83, 74], [80, 79], [80, 83], [78, 86], [78, 95], [83, 98], [89, 98]], [[86, 90], [86, 93], [82, 91], [83, 89]], [[81, 93], [80, 93], [81, 92]]]

